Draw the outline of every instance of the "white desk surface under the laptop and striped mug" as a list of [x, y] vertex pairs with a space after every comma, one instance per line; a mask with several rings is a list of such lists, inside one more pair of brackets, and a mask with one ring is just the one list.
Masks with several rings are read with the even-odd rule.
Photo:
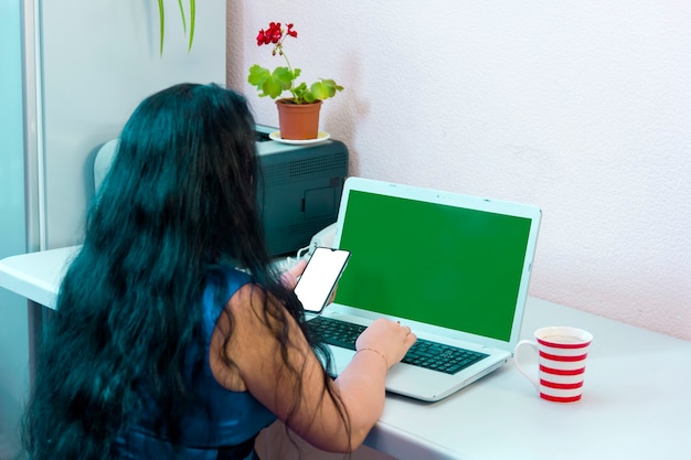
[[[0, 287], [54, 308], [76, 247], [0, 260]], [[583, 399], [538, 398], [513, 363], [434, 404], [390, 395], [366, 443], [401, 460], [691, 458], [691, 342], [530, 298], [523, 338], [591, 331]]]

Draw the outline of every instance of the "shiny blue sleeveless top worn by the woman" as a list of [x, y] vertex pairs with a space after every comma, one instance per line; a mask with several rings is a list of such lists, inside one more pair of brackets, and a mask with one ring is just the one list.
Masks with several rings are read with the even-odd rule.
[[[256, 400], [248, 392], [231, 392], [221, 386], [209, 364], [211, 335], [219, 315], [227, 300], [249, 282], [246, 274], [224, 268], [225, 286], [213, 279], [206, 282], [203, 296], [202, 332], [205, 350], [200, 356], [199, 346], [189, 350], [187, 374], [200, 404], [181, 416], [181, 443], [176, 448], [168, 441], [166, 429], [158, 420], [161, 410], [152, 400], [145, 402], [136, 426], [118, 435], [115, 442], [116, 457], [127, 460], [180, 459], [217, 460], [252, 457], [254, 438], [276, 416]], [[219, 277], [216, 277], [219, 278]], [[219, 292], [225, 293], [223, 297]], [[201, 362], [203, 360], [203, 362]], [[146, 394], [146, 391], [142, 393]]]

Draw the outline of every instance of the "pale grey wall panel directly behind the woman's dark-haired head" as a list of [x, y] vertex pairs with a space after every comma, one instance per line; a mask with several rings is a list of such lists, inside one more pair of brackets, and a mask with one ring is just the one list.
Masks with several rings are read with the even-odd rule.
[[40, 3], [45, 206], [36, 225], [44, 249], [82, 240], [94, 157], [141, 99], [177, 83], [223, 83], [225, 0], [198, 2], [189, 53], [178, 2], [167, 0], [162, 55], [156, 1]]

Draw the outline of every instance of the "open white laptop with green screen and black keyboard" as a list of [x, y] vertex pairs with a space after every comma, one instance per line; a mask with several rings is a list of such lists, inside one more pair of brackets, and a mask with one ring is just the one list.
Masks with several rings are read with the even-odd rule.
[[[421, 352], [428, 357], [468, 351], [450, 370], [406, 355], [386, 376], [391, 393], [443, 399], [512, 356], [540, 220], [534, 205], [348, 178], [333, 247], [351, 257], [333, 302], [311, 320], [362, 329], [384, 317], [432, 344]], [[336, 376], [354, 344], [323, 339]]]

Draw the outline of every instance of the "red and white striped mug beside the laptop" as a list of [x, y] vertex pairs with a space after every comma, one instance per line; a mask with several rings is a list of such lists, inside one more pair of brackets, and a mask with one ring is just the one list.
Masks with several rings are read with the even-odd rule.
[[[585, 359], [593, 334], [576, 328], [550, 327], [538, 329], [534, 336], [534, 341], [522, 340], [515, 345], [513, 360], [518, 370], [532, 382], [542, 399], [553, 403], [581, 400]], [[518, 352], [527, 345], [538, 352], [539, 381], [521, 366]]]

